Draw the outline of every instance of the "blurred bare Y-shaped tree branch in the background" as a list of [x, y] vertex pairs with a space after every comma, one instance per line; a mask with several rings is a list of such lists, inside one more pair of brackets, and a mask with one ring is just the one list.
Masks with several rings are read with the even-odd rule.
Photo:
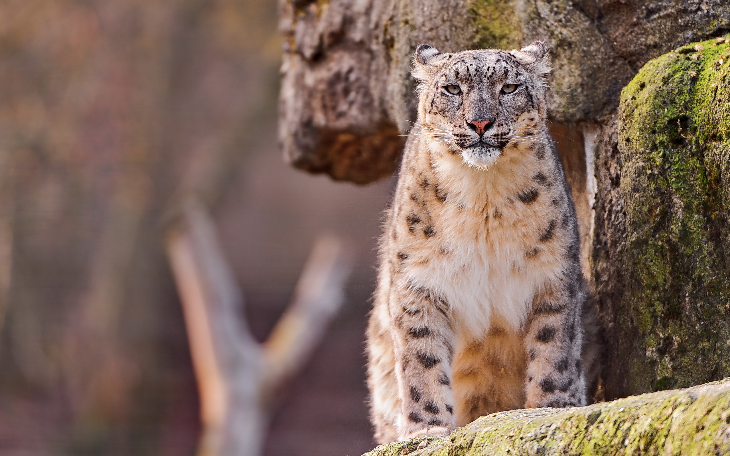
[[342, 304], [350, 256], [342, 240], [320, 237], [293, 302], [260, 346], [242, 321], [242, 296], [196, 199], [185, 201], [166, 248], [198, 379], [198, 454], [258, 456], [275, 393], [303, 367]]

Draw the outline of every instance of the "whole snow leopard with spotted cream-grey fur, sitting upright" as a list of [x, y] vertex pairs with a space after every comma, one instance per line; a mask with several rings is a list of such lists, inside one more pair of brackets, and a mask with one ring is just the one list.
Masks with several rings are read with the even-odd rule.
[[[380, 442], [445, 435], [493, 411], [585, 404], [591, 308], [545, 126], [548, 71], [542, 43], [415, 55], [418, 121], [385, 217], [367, 335]], [[502, 94], [505, 83], [520, 86]], [[475, 115], [496, 118], [485, 139], [467, 124]]]

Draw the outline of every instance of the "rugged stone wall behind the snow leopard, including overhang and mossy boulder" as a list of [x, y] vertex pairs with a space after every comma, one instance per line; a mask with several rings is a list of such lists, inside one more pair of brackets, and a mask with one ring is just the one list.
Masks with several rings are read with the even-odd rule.
[[726, 64], [717, 63], [726, 45], [681, 47], [730, 31], [730, 4], [285, 0], [280, 17], [285, 156], [358, 183], [396, 169], [401, 135], [415, 121], [409, 73], [418, 44], [458, 51], [545, 41], [554, 130], [580, 144], [558, 152], [604, 327], [599, 397], [730, 375], [728, 97]]

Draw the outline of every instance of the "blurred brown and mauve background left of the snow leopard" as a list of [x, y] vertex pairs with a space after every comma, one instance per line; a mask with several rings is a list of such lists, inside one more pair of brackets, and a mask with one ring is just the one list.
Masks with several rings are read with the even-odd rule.
[[321, 232], [356, 254], [266, 455], [374, 446], [363, 341], [393, 180], [334, 183], [276, 142], [275, 0], [0, 2], [0, 454], [193, 455], [199, 399], [165, 217], [210, 209], [263, 341]]

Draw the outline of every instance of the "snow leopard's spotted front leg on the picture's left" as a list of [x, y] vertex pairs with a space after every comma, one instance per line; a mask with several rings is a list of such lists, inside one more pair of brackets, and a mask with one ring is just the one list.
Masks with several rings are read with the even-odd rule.
[[423, 286], [393, 286], [399, 438], [445, 436], [454, 429], [451, 361], [453, 330], [448, 304]]

